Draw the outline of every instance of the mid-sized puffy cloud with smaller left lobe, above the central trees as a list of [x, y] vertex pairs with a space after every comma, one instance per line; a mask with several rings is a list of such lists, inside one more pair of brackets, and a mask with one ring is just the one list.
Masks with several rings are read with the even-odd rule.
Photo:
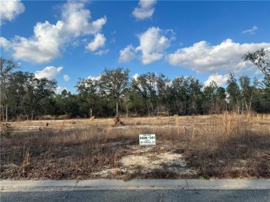
[[[166, 35], [172, 34], [172, 37]], [[169, 48], [172, 40], [175, 39], [172, 30], [161, 30], [159, 28], [148, 28], [145, 32], [138, 34], [140, 45], [134, 48], [132, 45], [120, 50], [118, 61], [127, 62], [135, 57], [141, 60], [143, 64], [149, 64], [162, 59], [165, 50]]]

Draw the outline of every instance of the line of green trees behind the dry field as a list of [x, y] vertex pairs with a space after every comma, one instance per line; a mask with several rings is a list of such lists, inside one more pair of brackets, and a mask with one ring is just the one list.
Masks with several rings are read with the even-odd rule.
[[105, 68], [99, 79], [79, 79], [71, 94], [56, 94], [57, 81], [37, 79], [17, 70], [19, 63], [1, 57], [1, 119], [36, 119], [44, 115], [69, 117], [118, 117], [220, 114], [224, 111], [270, 112], [270, 63], [263, 48], [247, 52], [264, 74], [264, 80], [230, 73], [227, 87], [215, 81], [205, 86], [195, 77], [173, 80], [164, 74], [147, 72], [130, 78], [128, 68]]

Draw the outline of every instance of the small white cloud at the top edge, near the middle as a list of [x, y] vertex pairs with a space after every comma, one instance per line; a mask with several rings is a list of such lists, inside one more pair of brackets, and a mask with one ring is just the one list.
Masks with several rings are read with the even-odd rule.
[[133, 16], [140, 20], [152, 17], [155, 3], [156, 0], [140, 0], [138, 7], [132, 12]]

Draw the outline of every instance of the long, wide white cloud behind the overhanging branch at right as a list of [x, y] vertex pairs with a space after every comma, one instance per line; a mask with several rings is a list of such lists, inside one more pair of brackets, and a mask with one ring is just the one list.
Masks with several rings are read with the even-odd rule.
[[190, 68], [197, 72], [242, 72], [254, 68], [254, 65], [242, 61], [242, 56], [260, 48], [270, 50], [270, 43], [235, 43], [226, 39], [219, 45], [211, 46], [206, 41], [199, 41], [188, 48], [181, 48], [168, 54], [166, 60], [171, 65]]

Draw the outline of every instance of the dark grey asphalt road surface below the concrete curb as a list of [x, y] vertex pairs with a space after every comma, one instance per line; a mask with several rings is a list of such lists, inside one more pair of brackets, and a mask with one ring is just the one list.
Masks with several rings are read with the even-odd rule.
[[60, 201], [270, 201], [270, 190], [72, 190], [1, 192], [1, 202]]

